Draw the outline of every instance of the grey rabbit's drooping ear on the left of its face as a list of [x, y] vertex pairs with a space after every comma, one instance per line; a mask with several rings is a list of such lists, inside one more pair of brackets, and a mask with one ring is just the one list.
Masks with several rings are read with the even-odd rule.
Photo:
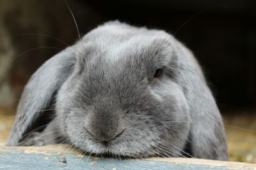
[[[67, 80], [76, 63], [76, 50], [70, 46], [47, 60], [30, 78], [17, 108], [17, 117], [7, 145], [17, 146], [24, 135], [32, 131], [38, 118], [45, 116], [52, 97]], [[47, 115], [51, 117], [52, 115]]]

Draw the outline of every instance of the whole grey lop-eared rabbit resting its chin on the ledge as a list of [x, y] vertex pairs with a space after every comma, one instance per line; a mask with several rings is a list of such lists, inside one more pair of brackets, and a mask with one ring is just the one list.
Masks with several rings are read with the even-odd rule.
[[52, 142], [124, 157], [228, 159], [198, 62], [157, 29], [113, 21], [88, 32], [31, 76], [17, 115], [8, 146]]

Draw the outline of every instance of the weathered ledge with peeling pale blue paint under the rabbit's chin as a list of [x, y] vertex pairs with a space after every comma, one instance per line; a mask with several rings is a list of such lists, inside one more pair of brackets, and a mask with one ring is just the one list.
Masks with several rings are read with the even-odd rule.
[[256, 164], [184, 158], [99, 159], [80, 155], [68, 145], [0, 145], [0, 169], [256, 169]]

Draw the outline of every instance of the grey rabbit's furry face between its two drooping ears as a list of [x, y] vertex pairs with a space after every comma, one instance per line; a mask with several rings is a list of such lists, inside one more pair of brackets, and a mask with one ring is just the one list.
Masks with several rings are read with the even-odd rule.
[[175, 53], [164, 32], [138, 31], [99, 36], [96, 29], [77, 45], [83, 48], [76, 48], [74, 72], [58, 92], [56, 115], [84, 152], [148, 157], [184, 149], [188, 106], [170, 67]]

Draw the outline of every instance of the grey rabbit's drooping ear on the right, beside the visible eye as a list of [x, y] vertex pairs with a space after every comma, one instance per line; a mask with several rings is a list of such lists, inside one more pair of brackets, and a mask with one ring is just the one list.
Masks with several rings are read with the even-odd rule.
[[197, 158], [227, 160], [225, 129], [218, 106], [193, 54], [172, 42], [179, 60], [177, 80], [189, 105], [191, 126], [186, 150]]

